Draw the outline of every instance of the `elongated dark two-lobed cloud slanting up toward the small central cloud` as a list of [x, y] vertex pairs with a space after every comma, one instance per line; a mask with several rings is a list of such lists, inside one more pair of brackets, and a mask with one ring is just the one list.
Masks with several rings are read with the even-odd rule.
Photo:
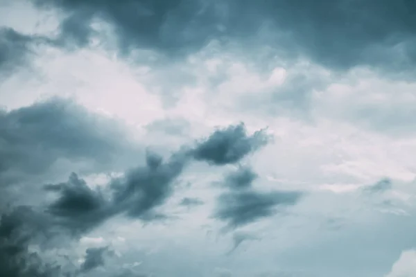
[[191, 157], [187, 152], [175, 152], [164, 161], [155, 152], [146, 152], [146, 165], [112, 179], [103, 191], [89, 188], [75, 173], [69, 181], [48, 184], [44, 188], [59, 193], [47, 212], [55, 224], [75, 234], [94, 229], [114, 215], [126, 213], [144, 222], [165, 219], [155, 211], [173, 193], [173, 181], [182, 173]]

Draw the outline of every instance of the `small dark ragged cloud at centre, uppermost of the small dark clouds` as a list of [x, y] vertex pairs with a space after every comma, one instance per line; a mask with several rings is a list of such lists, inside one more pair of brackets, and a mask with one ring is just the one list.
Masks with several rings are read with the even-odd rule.
[[198, 143], [193, 150], [193, 157], [217, 166], [238, 163], [251, 152], [266, 145], [268, 140], [263, 130], [250, 136], [243, 123], [230, 125], [225, 129], [217, 129], [205, 141]]

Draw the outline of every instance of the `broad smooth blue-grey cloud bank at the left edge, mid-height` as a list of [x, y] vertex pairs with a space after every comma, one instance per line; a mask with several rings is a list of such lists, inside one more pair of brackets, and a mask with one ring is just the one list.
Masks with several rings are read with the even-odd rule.
[[69, 100], [53, 98], [0, 111], [1, 186], [42, 174], [59, 159], [109, 168], [117, 154], [120, 160], [128, 152], [131, 144], [125, 137], [125, 130], [111, 120]]

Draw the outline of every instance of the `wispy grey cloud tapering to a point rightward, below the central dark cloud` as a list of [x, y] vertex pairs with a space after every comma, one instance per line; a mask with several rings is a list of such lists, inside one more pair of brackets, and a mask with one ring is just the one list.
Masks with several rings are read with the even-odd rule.
[[280, 191], [263, 193], [245, 190], [223, 193], [218, 197], [214, 217], [235, 228], [270, 217], [277, 212], [278, 207], [296, 204], [301, 196], [302, 193], [299, 192]]

